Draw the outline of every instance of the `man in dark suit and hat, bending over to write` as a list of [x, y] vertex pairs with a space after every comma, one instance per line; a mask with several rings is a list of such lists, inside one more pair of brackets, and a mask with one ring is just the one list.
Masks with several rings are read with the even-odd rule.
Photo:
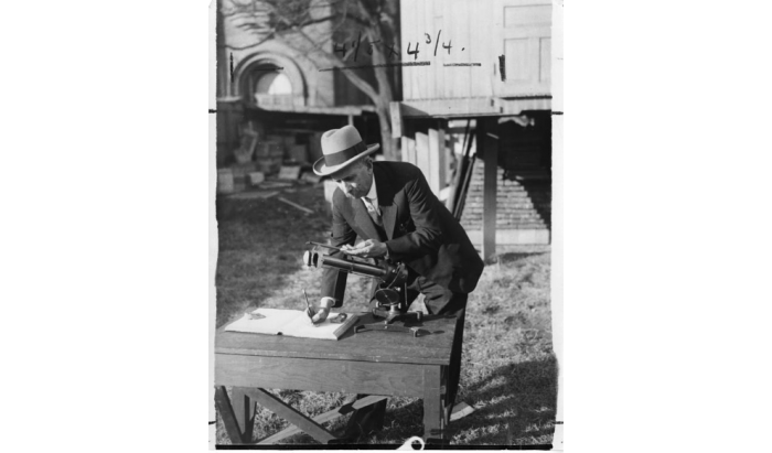
[[[314, 164], [320, 176], [337, 184], [332, 204], [333, 256], [405, 262], [408, 270], [406, 306], [425, 294], [429, 314], [455, 315], [457, 328], [448, 381], [448, 410], [455, 398], [467, 300], [484, 265], [467, 233], [431, 192], [421, 171], [405, 162], [373, 162], [379, 144], [366, 145], [347, 126], [322, 137], [324, 157]], [[364, 241], [355, 246], [356, 237]], [[340, 308], [346, 272], [325, 269], [322, 299], [314, 322]], [[383, 423], [386, 401], [357, 410], [347, 434], [368, 434]], [[448, 416], [448, 414], [446, 414]]]

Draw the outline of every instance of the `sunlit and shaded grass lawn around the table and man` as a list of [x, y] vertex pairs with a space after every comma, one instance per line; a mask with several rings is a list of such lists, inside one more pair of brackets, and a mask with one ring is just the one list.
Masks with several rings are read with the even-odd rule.
[[[305, 241], [325, 242], [330, 229], [322, 185], [296, 186], [279, 196], [312, 208], [307, 215], [277, 197], [217, 198], [217, 327], [256, 308], [301, 310], [302, 290], [319, 300], [321, 270], [302, 265]], [[451, 422], [452, 445], [550, 444], [555, 432], [557, 364], [553, 353], [549, 300], [550, 256], [544, 248], [521, 248], [501, 255], [483, 272], [470, 294], [463, 362], [457, 402], [473, 406], [471, 414]], [[368, 309], [369, 279], [349, 276], [346, 311]], [[341, 406], [347, 395], [277, 390], [309, 417]], [[364, 443], [403, 444], [422, 435], [422, 406], [416, 398], [390, 398], [384, 430]], [[325, 424], [340, 434], [346, 416]], [[259, 408], [255, 440], [288, 423]], [[217, 422], [217, 443], [228, 444]], [[301, 433], [287, 444], [318, 444]]]

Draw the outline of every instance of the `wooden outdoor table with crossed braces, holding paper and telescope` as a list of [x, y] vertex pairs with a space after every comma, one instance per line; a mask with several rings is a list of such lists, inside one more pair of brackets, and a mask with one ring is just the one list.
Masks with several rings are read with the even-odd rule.
[[[373, 322], [372, 315], [358, 321]], [[425, 316], [422, 335], [361, 332], [352, 327], [337, 342], [218, 330], [215, 336], [215, 401], [234, 444], [253, 443], [256, 400], [297, 428], [258, 441], [275, 443], [300, 432], [319, 442], [336, 438], [321, 423], [387, 396], [423, 399], [423, 440], [444, 443], [450, 408], [446, 380], [455, 331], [453, 316]], [[233, 387], [233, 403], [225, 387]], [[313, 419], [287, 406], [269, 389], [368, 393], [371, 397]]]

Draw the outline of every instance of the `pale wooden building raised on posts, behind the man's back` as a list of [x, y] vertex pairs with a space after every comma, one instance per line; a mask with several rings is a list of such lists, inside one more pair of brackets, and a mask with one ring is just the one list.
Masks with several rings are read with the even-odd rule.
[[485, 258], [496, 244], [549, 244], [551, 2], [401, 0], [400, 11], [403, 46], [421, 63], [403, 67], [392, 105], [403, 159]]

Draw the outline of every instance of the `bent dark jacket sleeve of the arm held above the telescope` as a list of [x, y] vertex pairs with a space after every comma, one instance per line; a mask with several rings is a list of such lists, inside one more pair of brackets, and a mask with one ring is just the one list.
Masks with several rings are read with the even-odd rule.
[[442, 225], [438, 211], [441, 208], [440, 202], [429, 188], [423, 173], [419, 171], [405, 188], [416, 230], [386, 242], [390, 257], [395, 260], [435, 254], [442, 245]]

